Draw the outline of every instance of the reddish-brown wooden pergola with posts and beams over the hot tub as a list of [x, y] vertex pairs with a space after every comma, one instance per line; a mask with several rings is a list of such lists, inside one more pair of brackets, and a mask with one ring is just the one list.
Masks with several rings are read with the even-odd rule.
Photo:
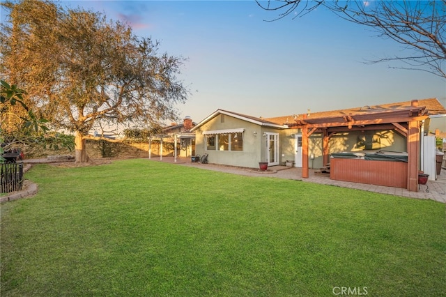
[[355, 130], [394, 130], [406, 137], [408, 153], [409, 191], [418, 190], [418, 163], [420, 160], [420, 126], [427, 119], [426, 107], [419, 107], [413, 100], [410, 107], [370, 111], [363, 109], [354, 113], [312, 119], [306, 114], [295, 119], [290, 128], [302, 130], [302, 178], [308, 178], [308, 139], [314, 133], [321, 133], [323, 139], [323, 164], [329, 163], [328, 141], [336, 132]]

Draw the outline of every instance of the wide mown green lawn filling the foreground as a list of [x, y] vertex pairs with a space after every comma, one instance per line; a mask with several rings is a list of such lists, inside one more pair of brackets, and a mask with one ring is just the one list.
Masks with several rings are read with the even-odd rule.
[[446, 292], [439, 202], [151, 160], [26, 178], [38, 195], [1, 205], [2, 297]]

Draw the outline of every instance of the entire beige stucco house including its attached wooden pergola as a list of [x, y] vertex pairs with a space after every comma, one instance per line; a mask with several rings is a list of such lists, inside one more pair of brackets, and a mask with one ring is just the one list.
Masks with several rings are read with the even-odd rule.
[[408, 173], [403, 175], [409, 177], [403, 187], [415, 190], [420, 156], [430, 151], [424, 148], [429, 119], [440, 114], [446, 109], [436, 98], [268, 119], [217, 109], [191, 132], [196, 133], [196, 153], [208, 153], [211, 163], [258, 167], [259, 162], [293, 161], [304, 178], [309, 168], [329, 165], [333, 153], [406, 153]]

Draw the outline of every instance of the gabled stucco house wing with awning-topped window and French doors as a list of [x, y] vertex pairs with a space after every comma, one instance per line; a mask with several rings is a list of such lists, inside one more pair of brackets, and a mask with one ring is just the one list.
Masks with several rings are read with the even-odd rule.
[[217, 109], [197, 123], [195, 136], [197, 155], [208, 153], [208, 162], [240, 167], [258, 167], [259, 162], [279, 165], [281, 152], [289, 149], [291, 130], [283, 123]]

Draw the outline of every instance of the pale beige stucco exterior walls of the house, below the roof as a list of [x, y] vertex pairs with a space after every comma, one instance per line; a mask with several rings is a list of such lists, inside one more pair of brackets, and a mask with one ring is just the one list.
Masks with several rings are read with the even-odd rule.
[[[208, 160], [211, 163], [240, 166], [258, 167], [259, 162], [266, 160], [266, 137], [265, 132], [279, 134], [279, 164], [284, 164], [286, 160], [295, 158], [295, 137], [300, 134], [298, 129], [277, 130], [267, 128], [254, 123], [249, 123], [240, 119], [224, 115], [222, 122], [221, 114], [208, 121], [197, 130], [196, 154], [208, 153]], [[203, 131], [225, 130], [245, 128], [243, 133], [243, 151], [208, 151], [204, 143]], [[254, 136], [254, 131], [257, 135]], [[339, 153], [341, 151], [406, 151], [406, 138], [393, 130], [369, 130], [339, 132], [330, 137], [329, 153]], [[323, 167], [323, 146], [322, 135], [314, 134], [309, 137], [309, 168], [317, 169]]]

